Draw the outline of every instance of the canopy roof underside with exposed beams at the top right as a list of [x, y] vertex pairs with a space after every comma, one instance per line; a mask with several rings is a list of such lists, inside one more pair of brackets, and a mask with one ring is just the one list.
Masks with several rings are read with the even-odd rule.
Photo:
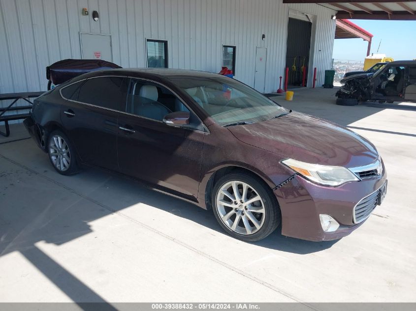
[[337, 12], [337, 19], [415, 21], [416, 1], [283, 0], [283, 3], [317, 3]]

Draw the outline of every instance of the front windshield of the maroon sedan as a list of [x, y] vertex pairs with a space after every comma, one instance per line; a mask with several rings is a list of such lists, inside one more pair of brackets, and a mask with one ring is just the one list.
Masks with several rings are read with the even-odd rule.
[[260, 122], [288, 113], [251, 87], [228, 77], [199, 76], [172, 80], [220, 125]]

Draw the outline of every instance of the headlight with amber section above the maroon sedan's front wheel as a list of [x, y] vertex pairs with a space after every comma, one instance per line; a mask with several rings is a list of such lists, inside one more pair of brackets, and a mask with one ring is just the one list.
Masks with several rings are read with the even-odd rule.
[[358, 177], [339, 166], [310, 164], [293, 159], [283, 160], [282, 163], [303, 177], [321, 185], [339, 186], [348, 181], [358, 181]]

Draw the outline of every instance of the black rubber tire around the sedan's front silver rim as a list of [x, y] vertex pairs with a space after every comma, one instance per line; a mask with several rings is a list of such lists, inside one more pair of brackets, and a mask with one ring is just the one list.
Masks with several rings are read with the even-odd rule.
[[[223, 187], [224, 185], [226, 185], [227, 183], [231, 182], [231, 181], [238, 181], [238, 182], [242, 182], [242, 183], [246, 183], [248, 186], [248, 191], [247, 193], [251, 192], [251, 195], [255, 196], [255, 194], [257, 194], [258, 196], [260, 196], [261, 201], [262, 201], [262, 205], [260, 200], [257, 201], [257, 203], [260, 205], [260, 207], [250, 207], [251, 208], [264, 208], [264, 214], [261, 213], [256, 213], [250, 210], [247, 210], [247, 207], [242, 207], [241, 211], [237, 211], [237, 207], [233, 206], [233, 207], [224, 207], [223, 208], [228, 208], [229, 210], [224, 211], [224, 213], [231, 213], [232, 214], [232, 210], [235, 210], [235, 217], [234, 220], [232, 219], [232, 216], [228, 217], [229, 221], [234, 223], [236, 218], [237, 218], [237, 213], [241, 213], [240, 217], [244, 217], [244, 212], [246, 212], [246, 222], [249, 220], [248, 218], [248, 213], [250, 213], [250, 217], [255, 216], [256, 220], [257, 217], [260, 219], [259, 222], [262, 221], [263, 217], [264, 220], [261, 223], [261, 226], [259, 229], [255, 228], [255, 225], [253, 222], [251, 222], [251, 220], [249, 221], [250, 225], [253, 225], [253, 228], [255, 228], [257, 231], [254, 233], [249, 234], [247, 227], [245, 225], [245, 222], [243, 221], [243, 219], [239, 219], [239, 221], [237, 222], [238, 224], [241, 224], [242, 226], [238, 226], [238, 228], [241, 227], [241, 230], [246, 230], [246, 233], [240, 233], [240, 232], [236, 232], [234, 230], [231, 229], [231, 225], [226, 225], [224, 223], [224, 221], [222, 220], [223, 215], [220, 214], [219, 211], [219, 207], [217, 206], [217, 196], [219, 195], [219, 191], [220, 188]], [[239, 193], [240, 196], [242, 194], [242, 189], [239, 189]], [[221, 195], [220, 195], [221, 196]], [[246, 195], [246, 198], [249, 197], [249, 194]], [[225, 197], [224, 197], [225, 198]], [[250, 200], [250, 198], [247, 199], [247, 201]], [[215, 218], [217, 219], [218, 223], [220, 224], [220, 226], [223, 227], [224, 231], [227, 232], [229, 235], [242, 240], [242, 241], [247, 241], [247, 242], [254, 242], [254, 241], [258, 241], [261, 240], [263, 238], [265, 238], [266, 236], [268, 236], [270, 233], [272, 233], [281, 223], [281, 213], [280, 213], [280, 207], [279, 207], [279, 203], [277, 202], [276, 197], [273, 195], [272, 190], [267, 186], [267, 184], [265, 184], [261, 179], [259, 179], [258, 177], [256, 177], [255, 175], [252, 174], [248, 174], [246, 172], [243, 171], [237, 171], [237, 172], [233, 172], [230, 173], [228, 175], [225, 175], [223, 177], [221, 177], [215, 184], [213, 192], [212, 192], [212, 210], [214, 212]], [[232, 201], [230, 200], [229, 203], [231, 203]], [[220, 209], [221, 204], [220, 205]], [[238, 206], [240, 205], [244, 205], [244, 204], [237, 204]], [[250, 204], [252, 205], [252, 204]]]

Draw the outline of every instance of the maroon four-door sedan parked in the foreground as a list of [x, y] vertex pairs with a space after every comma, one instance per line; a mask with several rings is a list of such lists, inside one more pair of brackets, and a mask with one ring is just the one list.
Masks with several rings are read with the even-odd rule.
[[54, 168], [113, 170], [211, 209], [230, 235], [333, 240], [381, 204], [375, 146], [218, 74], [114, 69], [35, 100], [25, 125]]

